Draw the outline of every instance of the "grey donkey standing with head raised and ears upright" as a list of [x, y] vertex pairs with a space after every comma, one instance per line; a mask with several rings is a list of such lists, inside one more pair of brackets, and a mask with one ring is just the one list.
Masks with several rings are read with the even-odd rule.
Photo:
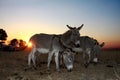
[[[60, 52], [64, 51], [66, 48], [72, 48], [73, 45], [76, 45], [76, 42], [79, 41], [80, 33], [79, 30], [83, 27], [83, 24], [76, 28], [67, 25], [69, 28], [63, 34], [55, 35], [55, 34], [35, 34], [30, 38], [30, 42], [32, 42], [32, 51], [28, 55], [28, 65], [31, 66], [31, 62], [33, 62], [34, 67], [36, 67], [36, 56], [35, 53], [38, 51], [39, 53], [45, 54], [48, 53], [48, 70], [50, 70], [50, 62], [52, 60], [52, 56], [55, 55], [55, 63], [57, 71], [60, 71], [59, 68], [59, 55]], [[66, 58], [68, 55], [65, 55]], [[66, 60], [64, 58], [64, 60]], [[72, 59], [71, 59], [72, 60]], [[73, 64], [68, 64], [68, 66], [73, 66]], [[71, 70], [73, 67], [67, 67], [67, 70]]]

